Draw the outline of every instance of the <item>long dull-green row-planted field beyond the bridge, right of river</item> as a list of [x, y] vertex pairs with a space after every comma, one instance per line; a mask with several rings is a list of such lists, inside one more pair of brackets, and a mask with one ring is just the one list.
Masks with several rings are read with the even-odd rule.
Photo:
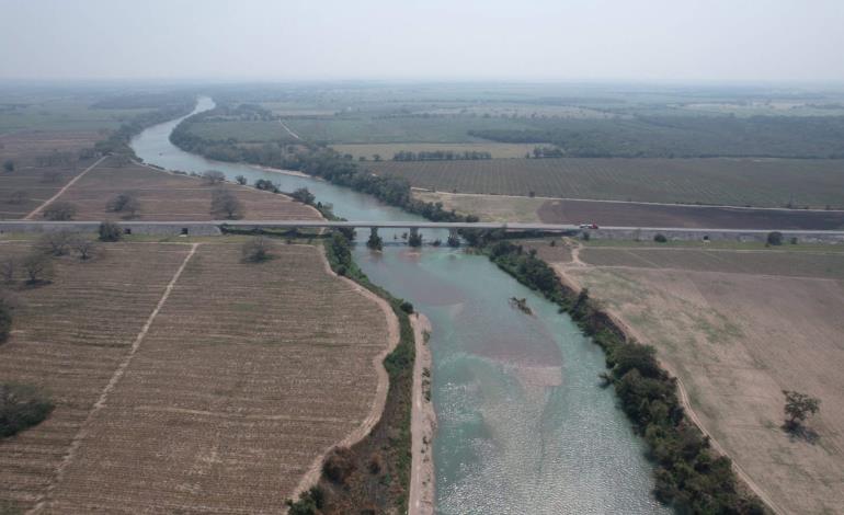
[[520, 159], [367, 163], [413, 186], [560, 198], [844, 207], [844, 161], [788, 159]]

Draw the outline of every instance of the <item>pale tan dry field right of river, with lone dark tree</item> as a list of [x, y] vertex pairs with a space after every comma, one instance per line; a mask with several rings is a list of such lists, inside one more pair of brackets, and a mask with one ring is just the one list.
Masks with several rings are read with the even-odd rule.
[[[839, 513], [841, 249], [535, 244], [567, 282], [588, 287], [631, 335], [657, 347], [698, 424], [779, 511]], [[780, 427], [783, 389], [821, 399], [806, 438]]]

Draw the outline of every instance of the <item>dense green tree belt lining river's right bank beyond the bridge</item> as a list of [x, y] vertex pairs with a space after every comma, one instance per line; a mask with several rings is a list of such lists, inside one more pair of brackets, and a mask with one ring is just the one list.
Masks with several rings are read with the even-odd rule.
[[454, 209], [443, 209], [442, 203], [415, 199], [411, 195], [410, 182], [407, 179], [375, 175], [330, 148], [305, 144], [293, 147], [283, 142], [244, 147], [239, 146], [235, 140], [209, 141], [202, 139], [191, 133], [190, 126], [195, 121], [202, 119], [204, 114], [192, 116], [179, 124], [170, 135], [170, 141], [183, 150], [218, 161], [248, 162], [281, 170], [305, 172], [322, 178], [332, 184], [368, 193], [386, 204], [401, 207], [429, 220], [478, 221], [475, 216], [464, 217], [455, 213]]

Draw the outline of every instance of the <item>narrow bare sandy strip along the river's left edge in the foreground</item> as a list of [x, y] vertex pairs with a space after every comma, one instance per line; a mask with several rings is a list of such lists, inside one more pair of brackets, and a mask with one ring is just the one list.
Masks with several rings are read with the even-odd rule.
[[431, 348], [427, 339], [431, 321], [424, 314], [410, 318], [417, 360], [413, 366], [413, 410], [410, 417], [413, 459], [410, 472], [409, 515], [433, 515], [434, 513], [434, 458], [431, 443], [436, 431], [436, 413], [431, 402]]

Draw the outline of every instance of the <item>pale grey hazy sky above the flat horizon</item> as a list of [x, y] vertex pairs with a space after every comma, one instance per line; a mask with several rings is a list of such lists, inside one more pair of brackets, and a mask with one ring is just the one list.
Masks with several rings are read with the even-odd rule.
[[0, 0], [0, 79], [844, 82], [844, 0]]

